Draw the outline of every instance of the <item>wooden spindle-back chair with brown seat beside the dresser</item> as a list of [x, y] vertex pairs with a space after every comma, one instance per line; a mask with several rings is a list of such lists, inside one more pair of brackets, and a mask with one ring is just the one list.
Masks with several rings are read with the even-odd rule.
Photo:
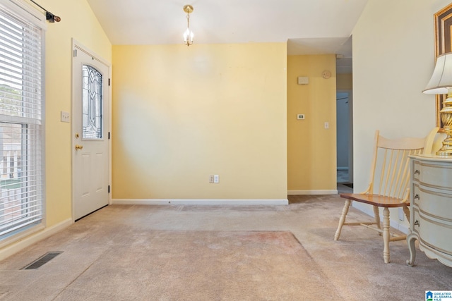
[[[345, 199], [338, 229], [334, 240], [340, 237], [343, 226], [365, 226], [383, 234], [383, 260], [390, 261], [389, 242], [403, 240], [406, 235], [390, 233], [389, 208], [401, 207], [410, 221], [410, 160], [412, 154], [432, 152], [434, 135], [438, 128], [434, 128], [424, 138], [386, 139], [376, 130], [374, 140], [374, 155], [371, 161], [371, 176], [369, 187], [361, 193], [342, 193]], [[374, 222], [345, 223], [348, 209], [352, 201], [371, 204], [374, 209]], [[383, 207], [383, 228], [381, 228], [379, 207]]]

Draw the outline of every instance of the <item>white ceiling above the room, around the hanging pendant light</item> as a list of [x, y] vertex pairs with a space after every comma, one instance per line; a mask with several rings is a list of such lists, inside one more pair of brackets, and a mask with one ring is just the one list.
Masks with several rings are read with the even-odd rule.
[[[352, 58], [350, 35], [368, 0], [88, 0], [112, 44], [179, 44], [185, 4], [194, 43], [287, 42], [287, 54]], [[63, 17], [64, 18], [64, 17]], [[347, 63], [348, 62], [348, 63]]]

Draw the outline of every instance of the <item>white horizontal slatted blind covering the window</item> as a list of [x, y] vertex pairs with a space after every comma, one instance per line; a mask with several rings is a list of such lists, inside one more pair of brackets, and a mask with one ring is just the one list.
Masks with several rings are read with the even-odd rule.
[[0, 6], [0, 240], [44, 214], [42, 28]]

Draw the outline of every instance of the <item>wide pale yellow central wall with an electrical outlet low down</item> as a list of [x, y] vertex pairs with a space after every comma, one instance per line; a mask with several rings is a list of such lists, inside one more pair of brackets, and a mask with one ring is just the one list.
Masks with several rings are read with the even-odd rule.
[[285, 43], [114, 46], [113, 199], [287, 199], [286, 64]]

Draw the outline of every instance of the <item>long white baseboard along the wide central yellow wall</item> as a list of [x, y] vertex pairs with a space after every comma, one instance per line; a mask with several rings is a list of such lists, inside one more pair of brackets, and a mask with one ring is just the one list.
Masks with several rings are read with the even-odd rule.
[[112, 199], [116, 205], [287, 205], [288, 199]]

